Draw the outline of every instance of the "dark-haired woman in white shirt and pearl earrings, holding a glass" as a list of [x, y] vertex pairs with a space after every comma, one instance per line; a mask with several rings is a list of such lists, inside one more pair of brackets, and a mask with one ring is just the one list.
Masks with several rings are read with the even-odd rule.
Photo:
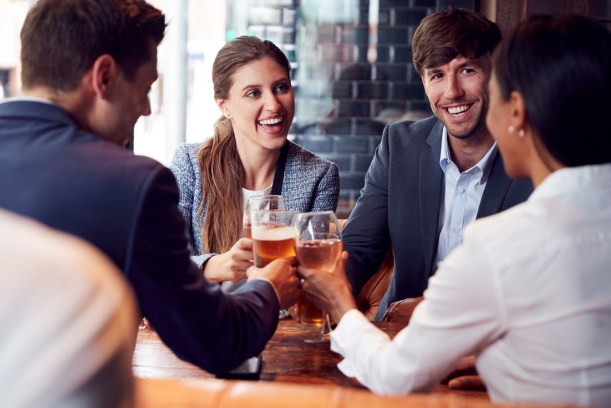
[[535, 191], [467, 227], [392, 341], [356, 310], [342, 266], [299, 268], [338, 322], [346, 375], [430, 391], [473, 352], [494, 402], [611, 402], [610, 73], [611, 33], [586, 17], [532, 17], [501, 42], [486, 123], [506, 172]]

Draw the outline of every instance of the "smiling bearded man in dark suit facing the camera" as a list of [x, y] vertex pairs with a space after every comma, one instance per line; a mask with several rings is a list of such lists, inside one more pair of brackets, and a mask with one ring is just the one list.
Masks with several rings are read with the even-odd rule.
[[422, 296], [464, 227], [533, 190], [507, 177], [485, 126], [489, 58], [500, 40], [496, 24], [454, 8], [415, 31], [413, 63], [435, 117], [385, 128], [343, 233], [355, 296], [392, 245], [394, 273], [376, 320], [391, 304], [387, 318], [407, 319], [415, 302], [405, 299]]

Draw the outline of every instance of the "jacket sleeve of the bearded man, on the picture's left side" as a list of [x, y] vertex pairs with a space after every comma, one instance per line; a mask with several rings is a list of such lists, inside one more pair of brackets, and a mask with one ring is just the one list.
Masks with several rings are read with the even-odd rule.
[[390, 174], [390, 127], [383, 132], [380, 145], [365, 175], [354, 209], [344, 227], [344, 250], [349, 252], [346, 277], [356, 297], [380, 268], [390, 247], [388, 229], [388, 184]]

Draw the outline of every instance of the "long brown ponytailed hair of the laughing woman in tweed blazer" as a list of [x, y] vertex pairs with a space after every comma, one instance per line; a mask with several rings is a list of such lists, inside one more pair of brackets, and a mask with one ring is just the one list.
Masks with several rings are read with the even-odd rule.
[[[289, 61], [269, 40], [244, 35], [225, 44], [212, 65], [215, 99], [228, 99], [233, 74], [262, 58], [270, 58], [290, 76]], [[204, 254], [221, 254], [231, 249], [242, 229], [244, 167], [237, 154], [231, 120], [224, 116], [217, 120], [215, 134], [203, 143], [197, 152], [197, 161], [203, 191], [198, 218], [206, 206], [206, 218], [201, 225], [201, 249]]]

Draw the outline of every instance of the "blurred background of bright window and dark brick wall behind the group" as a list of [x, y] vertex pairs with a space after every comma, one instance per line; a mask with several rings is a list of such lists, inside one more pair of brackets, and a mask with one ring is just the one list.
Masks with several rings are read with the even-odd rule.
[[[19, 95], [19, 30], [36, 0], [0, 0], [0, 99]], [[506, 33], [528, 15], [571, 11], [611, 28], [611, 0], [149, 0], [167, 15], [151, 111], [134, 129], [136, 154], [168, 164], [180, 142], [212, 136], [220, 113], [212, 63], [226, 41], [257, 35], [292, 65], [290, 139], [340, 168], [338, 215], [349, 215], [383, 128], [430, 115], [412, 67], [420, 20], [446, 6], [478, 10]]]

